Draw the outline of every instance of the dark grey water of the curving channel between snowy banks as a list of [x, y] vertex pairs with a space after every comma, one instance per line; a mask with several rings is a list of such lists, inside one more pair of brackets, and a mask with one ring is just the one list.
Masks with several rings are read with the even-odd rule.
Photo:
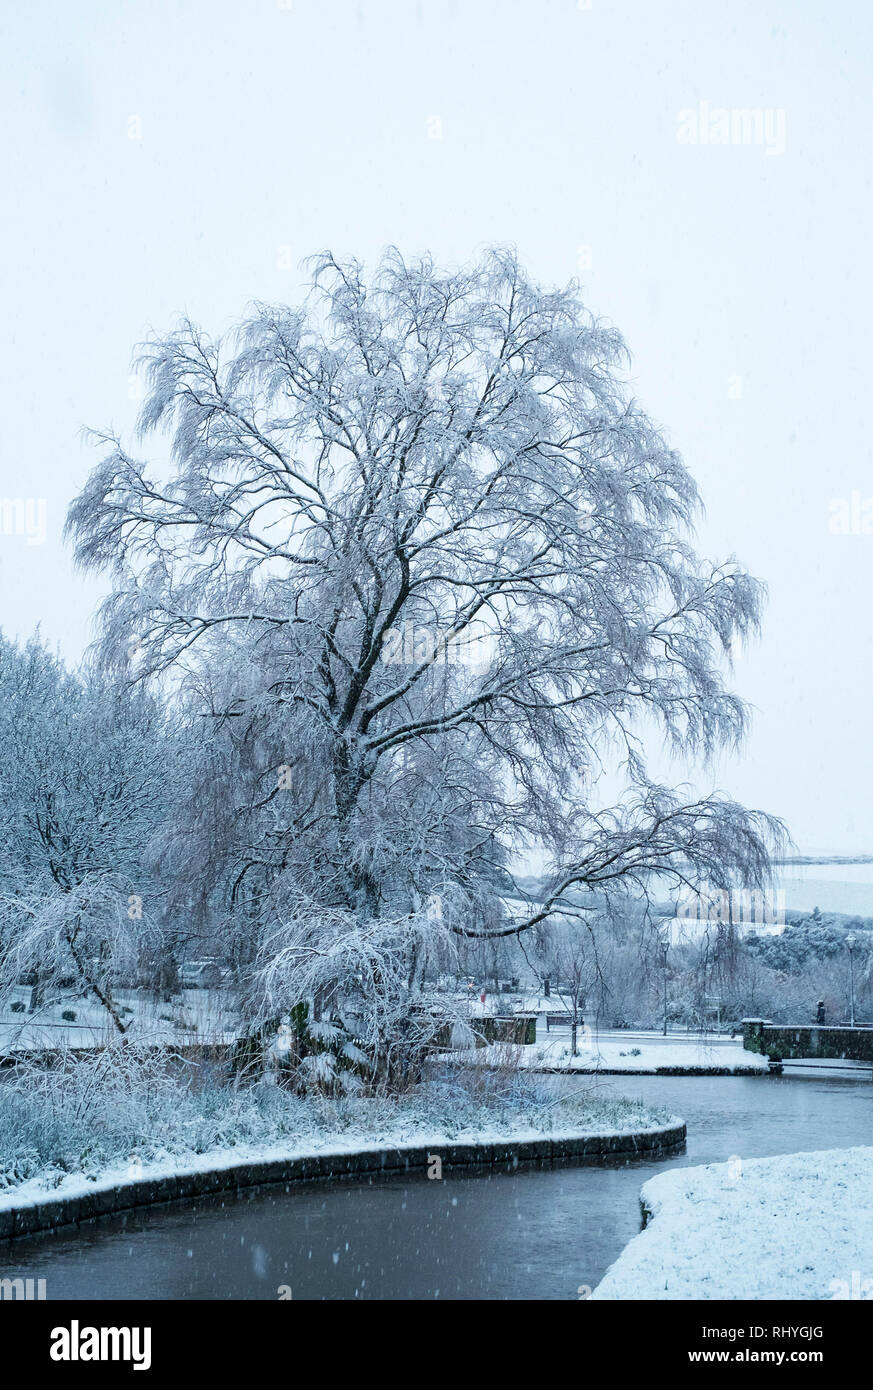
[[612, 1077], [605, 1091], [685, 1118], [687, 1154], [203, 1198], [6, 1244], [0, 1275], [44, 1277], [49, 1298], [75, 1300], [275, 1300], [282, 1284], [293, 1298], [576, 1298], [639, 1229], [653, 1173], [873, 1144], [869, 1074]]

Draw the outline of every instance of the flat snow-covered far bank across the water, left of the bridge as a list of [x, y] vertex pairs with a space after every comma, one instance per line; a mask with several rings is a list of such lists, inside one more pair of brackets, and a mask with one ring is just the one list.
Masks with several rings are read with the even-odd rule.
[[464, 1061], [499, 1063], [512, 1054], [519, 1065], [531, 1070], [557, 1069], [562, 1072], [633, 1072], [656, 1073], [664, 1069], [708, 1072], [724, 1068], [728, 1072], [766, 1072], [767, 1059], [758, 1052], [746, 1052], [742, 1038], [667, 1037], [634, 1034], [599, 1037], [580, 1029], [578, 1055], [570, 1055], [570, 1031], [545, 1034], [527, 1047], [507, 1048], [506, 1044], [464, 1052]]

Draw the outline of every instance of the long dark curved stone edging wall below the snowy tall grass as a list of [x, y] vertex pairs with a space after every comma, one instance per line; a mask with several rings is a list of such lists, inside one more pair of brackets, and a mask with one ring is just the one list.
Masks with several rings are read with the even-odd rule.
[[685, 1147], [685, 1122], [627, 1134], [578, 1134], [542, 1138], [466, 1140], [463, 1143], [392, 1144], [339, 1152], [295, 1154], [288, 1158], [246, 1159], [239, 1163], [186, 1169], [161, 1177], [133, 1177], [124, 1183], [95, 1183], [93, 1190], [68, 1197], [36, 1198], [0, 1208], [0, 1240], [17, 1240], [99, 1216], [143, 1207], [285, 1184], [285, 1190], [338, 1177], [427, 1170], [434, 1158], [446, 1168], [506, 1168], [519, 1163], [596, 1162], [602, 1158], [666, 1158]]

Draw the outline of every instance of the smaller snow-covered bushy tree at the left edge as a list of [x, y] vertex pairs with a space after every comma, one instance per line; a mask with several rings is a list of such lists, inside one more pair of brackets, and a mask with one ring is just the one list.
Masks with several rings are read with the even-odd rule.
[[38, 638], [0, 637], [0, 991], [31, 979], [38, 1009], [75, 983], [124, 1031], [113, 986], [160, 913], [146, 852], [167, 792], [161, 710]]

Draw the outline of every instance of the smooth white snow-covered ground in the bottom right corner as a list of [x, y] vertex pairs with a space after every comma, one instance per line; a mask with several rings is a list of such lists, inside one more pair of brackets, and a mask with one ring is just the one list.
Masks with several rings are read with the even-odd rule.
[[873, 1148], [652, 1177], [652, 1219], [594, 1298], [873, 1298]]

